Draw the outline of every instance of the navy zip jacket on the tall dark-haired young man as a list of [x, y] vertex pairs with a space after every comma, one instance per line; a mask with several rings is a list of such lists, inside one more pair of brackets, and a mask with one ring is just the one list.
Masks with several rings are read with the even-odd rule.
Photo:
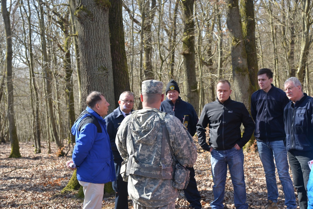
[[289, 99], [283, 90], [271, 85], [269, 92], [259, 89], [251, 96], [251, 116], [257, 141], [279, 141], [286, 137], [283, 118]]

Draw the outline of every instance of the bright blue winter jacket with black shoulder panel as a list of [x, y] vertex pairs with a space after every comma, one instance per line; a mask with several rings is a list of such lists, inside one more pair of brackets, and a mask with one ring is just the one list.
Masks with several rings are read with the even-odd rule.
[[105, 184], [115, 180], [110, 138], [105, 120], [87, 107], [72, 127], [75, 135], [72, 159], [77, 167], [77, 180]]

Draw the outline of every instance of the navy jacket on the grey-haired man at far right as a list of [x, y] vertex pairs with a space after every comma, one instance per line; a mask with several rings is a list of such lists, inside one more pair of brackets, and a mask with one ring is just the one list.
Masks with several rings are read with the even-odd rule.
[[287, 151], [313, 151], [313, 98], [304, 93], [304, 97], [293, 103], [287, 103], [284, 109], [284, 123]]

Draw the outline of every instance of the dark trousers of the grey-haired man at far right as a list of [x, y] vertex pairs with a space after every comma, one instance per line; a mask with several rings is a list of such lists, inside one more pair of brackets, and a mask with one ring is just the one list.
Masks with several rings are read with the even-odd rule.
[[288, 152], [289, 164], [298, 192], [300, 209], [308, 208], [308, 196], [306, 185], [309, 181], [310, 167], [308, 162], [313, 159], [313, 152], [301, 152], [292, 150]]

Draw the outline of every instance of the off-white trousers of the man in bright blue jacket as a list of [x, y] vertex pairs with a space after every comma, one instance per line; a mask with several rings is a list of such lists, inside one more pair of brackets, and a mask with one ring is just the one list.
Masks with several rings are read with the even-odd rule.
[[83, 209], [101, 209], [104, 184], [94, 184], [85, 181], [78, 181], [83, 187], [85, 199]]

